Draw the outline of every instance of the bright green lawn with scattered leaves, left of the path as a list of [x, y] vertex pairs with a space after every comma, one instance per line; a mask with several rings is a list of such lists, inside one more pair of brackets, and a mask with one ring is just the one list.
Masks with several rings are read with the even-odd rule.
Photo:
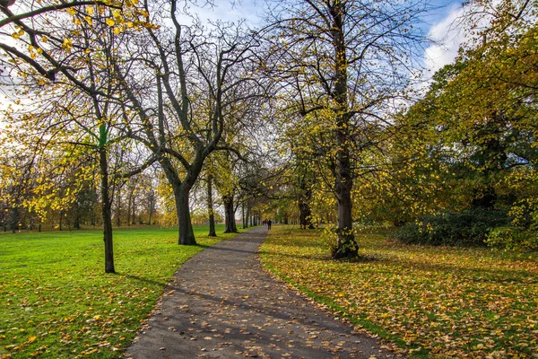
[[181, 263], [230, 238], [179, 246], [178, 230], [114, 231], [117, 274], [104, 273], [102, 231], [0, 235], [0, 356], [120, 357]]

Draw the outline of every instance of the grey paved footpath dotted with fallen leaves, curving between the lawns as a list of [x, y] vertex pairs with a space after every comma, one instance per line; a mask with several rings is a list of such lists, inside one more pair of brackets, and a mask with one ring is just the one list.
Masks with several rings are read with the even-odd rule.
[[138, 358], [391, 357], [371, 337], [268, 276], [256, 255], [265, 227], [221, 241], [176, 273], [142, 333]]

